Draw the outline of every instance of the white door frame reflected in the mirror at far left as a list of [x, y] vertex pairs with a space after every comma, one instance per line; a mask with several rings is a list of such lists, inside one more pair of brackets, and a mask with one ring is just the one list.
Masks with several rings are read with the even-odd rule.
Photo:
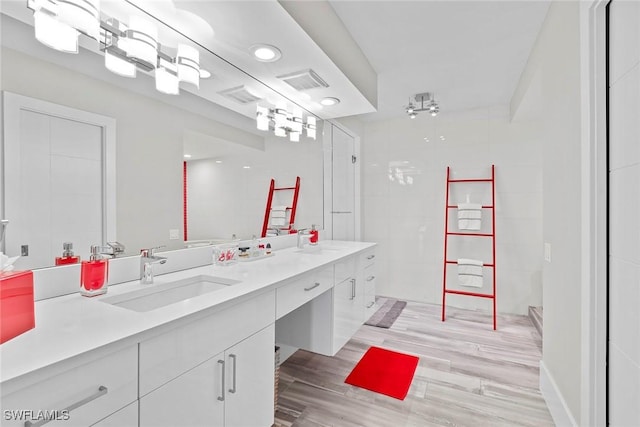
[[[6, 215], [6, 206], [17, 203], [14, 192], [9, 189], [9, 176], [16, 177], [19, 174], [19, 162], [5, 162], [5, 153], [11, 152], [11, 157], [16, 158], [20, 153], [15, 153], [19, 144], [13, 142], [20, 139], [20, 111], [32, 111], [48, 116], [59, 117], [66, 120], [86, 123], [102, 128], [102, 245], [116, 240], [116, 120], [88, 111], [78, 110], [60, 104], [55, 104], [41, 99], [31, 98], [17, 93], [2, 91], [2, 114], [4, 131], [2, 132], [2, 145], [0, 149], [0, 176], [4, 185], [0, 186], [0, 216]], [[11, 151], [10, 151], [11, 150]], [[11, 220], [11, 218], [7, 218]], [[9, 224], [9, 230], [11, 225]], [[4, 251], [4, 242], [0, 250]], [[50, 267], [39, 266], [40, 267]]]

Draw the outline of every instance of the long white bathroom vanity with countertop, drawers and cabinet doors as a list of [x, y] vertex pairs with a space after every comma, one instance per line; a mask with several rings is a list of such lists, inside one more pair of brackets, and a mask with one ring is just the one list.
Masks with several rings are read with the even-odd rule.
[[335, 354], [375, 309], [374, 269], [375, 244], [322, 241], [38, 301], [0, 346], [2, 425], [270, 426], [274, 345]]

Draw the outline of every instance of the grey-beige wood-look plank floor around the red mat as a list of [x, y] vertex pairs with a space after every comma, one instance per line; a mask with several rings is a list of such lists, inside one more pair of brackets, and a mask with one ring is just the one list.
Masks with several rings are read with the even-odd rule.
[[[335, 357], [299, 350], [280, 367], [276, 426], [553, 426], [538, 390], [540, 336], [527, 316], [409, 302], [390, 329], [362, 326]], [[420, 363], [404, 401], [344, 383], [370, 346]]]

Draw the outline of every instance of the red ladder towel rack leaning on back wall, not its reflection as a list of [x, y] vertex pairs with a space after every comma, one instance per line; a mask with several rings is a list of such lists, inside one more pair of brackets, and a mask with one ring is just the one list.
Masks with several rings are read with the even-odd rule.
[[[445, 320], [446, 298], [447, 294], [455, 295], [467, 295], [478, 298], [488, 298], [493, 301], [493, 329], [496, 329], [496, 180], [495, 180], [495, 165], [491, 165], [491, 178], [478, 178], [478, 179], [451, 179], [450, 168], [447, 166], [447, 200], [445, 205], [445, 223], [444, 223], [444, 262], [443, 262], [443, 274], [442, 274], [442, 321]], [[449, 202], [449, 187], [451, 184], [462, 182], [486, 182], [491, 184], [491, 204], [482, 205], [482, 209], [491, 210], [491, 233], [465, 233], [465, 232], [451, 232], [449, 231], [449, 210], [457, 209], [457, 205], [451, 205]], [[461, 291], [457, 289], [447, 289], [447, 265], [457, 264], [458, 261], [447, 259], [447, 244], [449, 236], [469, 236], [469, 237], [488, 237], [491, 239], [492, 248], [492, 262], [490, 264], [483, 264], [483, 268], [493, 269], [493, 285], [490, 294], [480, 292]]]

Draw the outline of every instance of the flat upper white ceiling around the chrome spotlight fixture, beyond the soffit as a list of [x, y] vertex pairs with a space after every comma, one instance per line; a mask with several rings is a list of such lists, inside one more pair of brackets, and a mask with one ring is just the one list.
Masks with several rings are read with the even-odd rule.
[[441, 111], [508, 104], [548, 1], [330, 0], [378, 73], [377, 120], [433, 92]]

